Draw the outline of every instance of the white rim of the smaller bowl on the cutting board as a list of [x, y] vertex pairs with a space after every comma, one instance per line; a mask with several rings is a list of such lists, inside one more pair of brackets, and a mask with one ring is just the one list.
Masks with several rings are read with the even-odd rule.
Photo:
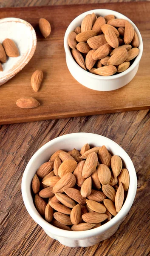
[[[80, 19], [80, 18], [84, 18], [85, 15], [88, 15], [88, 14], [92, 14], [93, 12], [108, 12], [108, 15], [109, 14], [113, 14], [115, 15], [115, 17], [117, 18], [117, 15], [121, 15], [122, 19], [125, 19], [125, 20], [128, 20], [130, 21], [130, 23], [133, 25], [137, 35], [138, 35], [138, 38], [139, 38], [139, 54], [137, 55], [137, 57], [135, 58], [133, 64], [125, 71], [123, 71], [122, 73], [119, 73], [119, 74], [114, 74], [113, 76], [98, 76], [96, 74], [92, 74], [84, 69], [82, 69], [82, 67], [80, 67], [76, 61], [74, 60], [74, 58], [72, 57], [72, 54], [71, 54], [71, 50], [70, 50], [70, 47], [68, 46], [68, 34], [72, 31], [71, 29], [71, 26], [72, 25], [75, 25], [75, 23]], [[103, 17], [103, 15], [102, 15]], [[139, 64], [139, 61], [142, 57], [142, 53], [143, 53], [143, 41], [142, 41], [142, 36], [139, 32], [139, 29], [137, 28], [137, 26], [133, 23], [132, 20], [130, 20], [129, 18], [127, 18], [125, 15], [121, 14], [120, 12], [116, 12], [116, 11], [113, 11], [113, 10], [109, 10], [109, 9], [94, 9], [94, 10], [90, 10], [90, 11], [87, 11], [87, 12], [83, 12], [82, 14], [78, 15], [74, 20], [71, 21], [71, 23], [69, 24], [66, 32], [65, 32], [65, 36], [64, 36], [64, 48], [65, 48], [65, 53], [66, 55], [69, 55], [70, 58], [72, 58], [72, 61], [74, 61], [75, 65], [76, 65], [76, 68], [79, 68], [80, 71], [82, 70], [82, 72], [86, 72], [85, 75], [87, 76], [91, 76], [92, 78], [96, 78], [96, 79], [99, 79], [99, 80], [111, 80], [111, 79], [116, 79], [116, 78], [119, 78], [119, 77], [122, 77], [122, 76], [125, 76], [127, 73], [129, 73], [131, 70], [133, 70], [138, 64]]]

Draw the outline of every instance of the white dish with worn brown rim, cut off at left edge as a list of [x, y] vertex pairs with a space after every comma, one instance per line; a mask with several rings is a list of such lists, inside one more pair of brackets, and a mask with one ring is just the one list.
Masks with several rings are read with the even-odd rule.
[[34, 55], [37, 46], [37, 37], [34, 28], [25, 20], [19, 18], [0, 19], [0, 43], [12, 39], [20, 52], [18, 57], [8, 57], [3, 63], [3, 72], [0, 72], [0, 85], [15, 76]]

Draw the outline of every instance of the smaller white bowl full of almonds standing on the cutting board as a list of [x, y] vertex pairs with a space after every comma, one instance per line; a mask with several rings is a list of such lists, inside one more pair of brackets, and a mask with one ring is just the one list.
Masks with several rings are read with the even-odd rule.
[[129, 83], [143, 52], [136, 25], [107, 9], [76, 17], [65, 32], [64, 47], [71, 75], [80, 84], [99, 91], [116, 90]]

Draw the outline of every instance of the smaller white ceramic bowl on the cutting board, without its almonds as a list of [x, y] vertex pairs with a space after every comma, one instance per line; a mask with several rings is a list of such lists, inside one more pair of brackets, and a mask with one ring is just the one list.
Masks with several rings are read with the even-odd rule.
[[[98, 76], [95, 74], [92, 74], [80, 67], [74, 58], [71, 55], [70, 48], [68, 46], [68, 35], [69, 33], [74, 30], [77, 26], [81, 26], [81, 22], [83, 18], [88, 15], [95, 13], [98, 16], [105, 16], [109, 14], [115, 15], [116, 18], [122, 18], [125, 20], [130, 21], [130, 23], [133, 25], [138, 37], [139, 37], [139, 55], [136, 57], [133, 64], [124, 72], [113, 75], [113, 76]], [[122, 15], [119, 12], [115, 12], [112, 10], [107, 9], [96, 9], [91, 10], [88, 12], [84, 12], [78, 17], [76, 17], [68, 26], [68, 29], [65, 32], [65, 38], [64, 38], [64, 47], [65, 47], [65, 54], [66, 54], [66, 63], [68, 66], [68, 70], [70, 71], [71, 75], [78, 81], [80, 84], [84, 85], [85, 87], [88, 87], [93, 90], [99, 90], [99, 91], [110, 91], [110, 90], [116, 90], [120, 87], [123, 87], [124, 85], [128, 84], [133, 77], [136, 75], [136, 72], [139, 68], [139, 61], [142, 57], [143, 52], [143, 42], [142, 37], [139, 32], [139, 29], [136, 27], [136, 25], [128, 19], [126, 16]]]

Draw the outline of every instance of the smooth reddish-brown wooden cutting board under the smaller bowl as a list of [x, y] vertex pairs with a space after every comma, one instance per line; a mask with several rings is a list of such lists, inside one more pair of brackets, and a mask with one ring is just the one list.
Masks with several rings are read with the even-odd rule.
[[[139, 28], [144, 52], [135, 78], [118, 90], [99, 92], [79, 84], [65, 62], [63, 38], [71, 21], [91, 9], [112, 9], [129, 17]], [[37, 49], [31, 61], [13, 79], [0, 86], [0, 124], [85, 116], [150, 108], [150, 3], [102, 3], [68, 6], [3, 8], [0, 17], [19, 17], [31, 23], [37, 33]], [[51, 23], [51, 36], [42, 38], [38, 20]], [[32, 73], [44, 73], [41, 89], [30, 85]], [[41, 103], [34, 109], [16, 105], [22, 96], [35, 97]]]

